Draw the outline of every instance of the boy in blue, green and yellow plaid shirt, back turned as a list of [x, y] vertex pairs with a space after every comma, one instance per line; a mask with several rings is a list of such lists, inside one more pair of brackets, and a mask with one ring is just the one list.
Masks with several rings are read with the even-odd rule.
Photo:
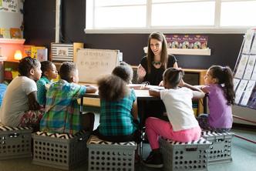
[[93, 131], [94, 114], [80, 112], [77, 99], [86, 92], [96, 92], [93, 86], [79, 86], [78, 70], [73, 62], [63, 62], [59, 69], [60, 80], [46, 93], [45, 114], [40, 122], [43, 132], [75, 134], [80, 130]]

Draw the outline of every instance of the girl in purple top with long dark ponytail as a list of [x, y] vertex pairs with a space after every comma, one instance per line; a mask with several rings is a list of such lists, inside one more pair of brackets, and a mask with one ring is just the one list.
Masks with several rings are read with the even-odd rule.
[[210, 114], [201, 114], [197, 120], [202, 129], [217, 132], [231, 130], [234, 104], [233, 72], [228, 66], [212, 65], [204, 76], [205, 86], [200, 88], [208, 94]]

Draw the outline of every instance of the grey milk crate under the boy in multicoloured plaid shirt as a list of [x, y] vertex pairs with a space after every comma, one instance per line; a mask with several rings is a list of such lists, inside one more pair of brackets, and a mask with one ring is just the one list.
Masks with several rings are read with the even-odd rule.
[[33, 164], [73, 169], [86, 163], [86, 142], [89, 133], [79, 132], [75, 136], [60, 133], [35, 132], [33, 138]]

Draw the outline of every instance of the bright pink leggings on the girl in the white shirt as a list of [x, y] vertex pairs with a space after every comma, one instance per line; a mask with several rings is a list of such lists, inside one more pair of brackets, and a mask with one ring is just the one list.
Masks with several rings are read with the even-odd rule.
[[147, 118], [145, 125], [151, 149], [159, 149], [158, 136], [179, 142], [200, 139], [201, 129], [199, 126], [174, 132], [170, 122], [153, 117]]

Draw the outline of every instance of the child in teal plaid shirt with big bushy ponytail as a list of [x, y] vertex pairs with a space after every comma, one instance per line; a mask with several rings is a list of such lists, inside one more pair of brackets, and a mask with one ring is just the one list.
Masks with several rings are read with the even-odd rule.
[[127, 84], [133, 79], [133, 69], [125, 62], [111, 75], [99, 79], [100, 118], [94, 132], [110, 142], [138, 142], [136, 95]]

